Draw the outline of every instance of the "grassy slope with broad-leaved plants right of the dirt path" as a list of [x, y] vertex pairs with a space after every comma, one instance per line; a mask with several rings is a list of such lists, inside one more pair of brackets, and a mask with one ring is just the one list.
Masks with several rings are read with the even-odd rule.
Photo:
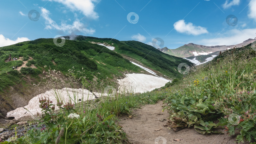
[[[238, 142], [256, 139], [256, 51], [224, 51], [169, 87], [169, 127], [200, 134], [227, 131]], [[215, 129], [221, 126], [223, 129]]]

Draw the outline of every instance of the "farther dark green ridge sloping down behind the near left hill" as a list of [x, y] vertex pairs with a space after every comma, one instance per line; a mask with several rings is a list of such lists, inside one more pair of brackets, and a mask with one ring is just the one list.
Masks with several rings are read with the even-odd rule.
[[[69, 39], [70, 36], [66, 36], [65, 38]], [[193, 65], [186, 59], [170, 56], [158, 51], [153, 46], [138, 41], [119, 41], [116, 39], [101, 39], [86, 36], [77, 36], [75, 40], [112, 45], [115, 47], [115, 52], [124, 57], [131, 58], [131, 61], [135, 60], [135, 62], [152, 69], [155, 73], [170, 79], [175, 77], [181, 78], [183, 76], [178, 72], [177, 68], [180, 63], [186, 63], [189, 66]]]

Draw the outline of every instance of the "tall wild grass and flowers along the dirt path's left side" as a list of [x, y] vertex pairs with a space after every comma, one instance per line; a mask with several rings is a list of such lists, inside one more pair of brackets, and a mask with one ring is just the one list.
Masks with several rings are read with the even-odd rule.
[[[72, 74], [76, 72], [70, 70], [69, 80], [74, 80]], [[58, 82], [50, 72], [47, 75], [46, 79], [51, 84]], [[83, 77], [73, 82], [74, 85], [82, 82], [83, 89], [91, 89], [91, 85]], [[134, 109], [144, 104], [155, 104], [168, 94], [164, 91], [142, 94], [107, 93], [98, 99], [89, 99], [89, 95], [83, 95], [80, 101], [77, 89], [73, 88], [72, 93], [67, 93], [69, 101], [65, 101], [64, 95], [55, 89], [57, 104], [53, 104], [52, 99], [40, 98], [42, 111], [35, 116], [39, 122], [38, 128], [29, 128], [24, 136], [14, 137], [9, 143], [126, 143], [126, 135], [117, 124], [119, 117], [129, 117]]]

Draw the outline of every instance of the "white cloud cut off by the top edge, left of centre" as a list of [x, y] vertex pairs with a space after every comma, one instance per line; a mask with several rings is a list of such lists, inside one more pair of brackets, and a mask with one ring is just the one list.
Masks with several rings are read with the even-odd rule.
[[54, 1], [58, 3], [62, 3], [67, 6], [69, 9], [73, 11], [81, 11], [83, 15], [97, 19], [99, 15], [94, 11], [95, 5], [93, 2], [97, 2], [97, 0], [48, 0]]

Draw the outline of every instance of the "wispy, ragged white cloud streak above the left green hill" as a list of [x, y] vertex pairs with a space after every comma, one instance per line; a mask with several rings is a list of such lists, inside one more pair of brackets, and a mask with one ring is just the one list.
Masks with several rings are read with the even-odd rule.
[[50, 11], [45, 9], [45, 8], [41, 8], [41, 16], [46, 20], [45, 24], [46, 24], [46, 29], [56, 29], [56, 30], [61, 30], [67, 33], [72, 33], [74, 31], [80, 31], [82, 33], [86, 33], [86, 34], [93, 34], [95, 32], [94, 29], [88, 29], [84, 26], [83, 23], [81, 23], [78, 19], [76, 19], [72, 25], [70, 24], [66, 24], [65, 22], [61, 22], [60, 25], [58, 25], [55, 21], [53, 21], [50, 17], [49, 17]]

